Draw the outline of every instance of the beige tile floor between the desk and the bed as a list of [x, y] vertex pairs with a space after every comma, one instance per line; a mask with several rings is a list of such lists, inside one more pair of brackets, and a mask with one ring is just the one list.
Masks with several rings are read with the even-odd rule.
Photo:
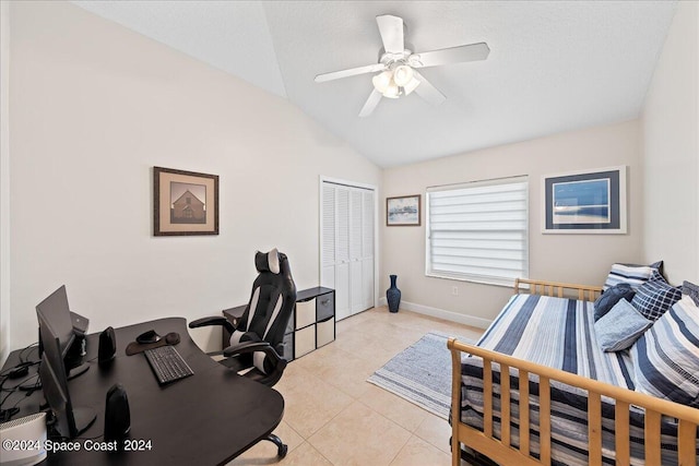
[[336, 324], [333, 343], [291, 362], [275, 389], [288, 445], [260, 442], [229, 463], [241, 465], [449, 465], [449, 423], [367, 378], [429, 331], [476, 339], [483, 331], [415, 312], [376, 308]]

